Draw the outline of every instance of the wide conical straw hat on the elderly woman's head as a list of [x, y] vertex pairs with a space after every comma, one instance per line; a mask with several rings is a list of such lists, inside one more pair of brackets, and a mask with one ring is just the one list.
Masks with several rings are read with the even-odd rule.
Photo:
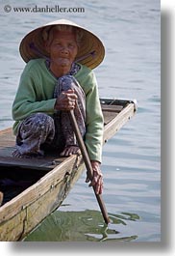
[[47, 26], [55, 25], [69, 25], [83, 30], [83, 38], [75, 61], [87, 66], [87, 68], [91, 70], [99, 66], [105, 56], [105, 47], [103, 43], [87, 29], [65, 19], [59, 19], [38, 27], [23, 38], [19, 46], [19, 52], [26, 63], [31, 59], [37, 59], [40, 57], [49, 58], [42, 39], [42, 31]]

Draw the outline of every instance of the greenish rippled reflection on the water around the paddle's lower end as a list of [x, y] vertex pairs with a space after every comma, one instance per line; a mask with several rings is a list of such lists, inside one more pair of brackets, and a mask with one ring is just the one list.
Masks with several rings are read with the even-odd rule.
[[[109, 214], [111, 223], [104, 224], [98, 211], [61, 212], [50, 214], [24, 241], [42, 242], [107, 242], [133, 241], [137, 236], [125, 236], [120, 225], [126, 226], [127, 221], [136, 221], [135, 213]], [[120, 231], [119, 231], [120, 230]]]

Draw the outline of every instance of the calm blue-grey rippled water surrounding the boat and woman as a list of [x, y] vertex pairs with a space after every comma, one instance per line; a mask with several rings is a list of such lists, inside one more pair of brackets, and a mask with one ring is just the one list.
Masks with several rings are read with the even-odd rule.
[[[103, 223], [84, 174], [63, 202], [27, 241], [161, 240], [160, 1], [59, 1], [85, 13], [10, 13], [4, 6], [45, 7], [48, 1], [1, 1], [0, 128], [13, 125], [11, 107], [24, 62], [22, 37], [38, 25], [72, 19], [96, 33], [106, 58], [95, 70], [101, 97], [137, 99], [138, 111], [103, 150], [104, 201], [112, 223]], [[81, 3], [81, 4], [80, 4]], [[52, 1], [51, 7], [58, 5]]]

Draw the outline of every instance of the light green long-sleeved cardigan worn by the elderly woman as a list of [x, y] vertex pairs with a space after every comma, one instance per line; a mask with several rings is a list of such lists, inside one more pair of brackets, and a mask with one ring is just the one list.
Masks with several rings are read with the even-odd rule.
[[[99, 102], [97, 82], [93, 71], [80, 65], [74, 76], [86, 94], [86, 146], [91, 160], [101, 162], [103, 140], [103, 115]], [[19, 87], [13, 101], [13, 133], [18, 125], [33, 113], [54, 114], [53, 99], [57, 78], [46, 68], [44, 59], [31, 60], [21, 74]]]

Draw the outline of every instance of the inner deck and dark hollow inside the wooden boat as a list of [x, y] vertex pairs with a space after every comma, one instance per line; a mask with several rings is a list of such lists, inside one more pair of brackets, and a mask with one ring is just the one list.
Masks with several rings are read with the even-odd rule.
[[[104, 126], [109, 124], [120, 111], [129, 104], [129, 100], [101, 100]], [[0, 131], [0, 191], [4, 199], [2, 205], [34, 185], [41, 177], [65, 160], [57, 153], [49, 153], [41, 158], [15, 158], [13, 129]]]

